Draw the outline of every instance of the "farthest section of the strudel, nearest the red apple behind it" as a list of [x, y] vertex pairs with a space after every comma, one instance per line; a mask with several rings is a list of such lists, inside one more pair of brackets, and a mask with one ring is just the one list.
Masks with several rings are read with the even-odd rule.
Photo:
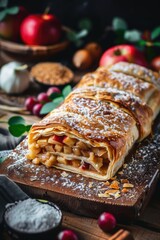
[[[114, 66], [114, 65], [113, 65]], [[105, 67], [86, 74], [77, 87], [98, 86], [101, 88], [117, 88], [139, 97], [153, 111], [153, 119], [160, 110], [160, 91], [151, 82], [126, 75], [122, 72], [110, 71]]]

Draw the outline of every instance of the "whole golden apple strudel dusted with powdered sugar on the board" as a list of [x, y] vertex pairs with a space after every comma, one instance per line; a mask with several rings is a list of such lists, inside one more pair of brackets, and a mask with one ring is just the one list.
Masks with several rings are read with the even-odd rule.
[[32, 126], [27, 158], [110, 179], [134, 143], [150, 134], [159, 93], [154, 83], [121, 72], [99, 68], [86, 74], [61, 106]]

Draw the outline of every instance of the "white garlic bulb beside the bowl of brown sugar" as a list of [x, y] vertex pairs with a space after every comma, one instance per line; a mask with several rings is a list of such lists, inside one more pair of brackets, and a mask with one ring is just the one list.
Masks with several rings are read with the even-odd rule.
[[29, 71], [27, 65], [10, 62], [0, 70], [0, 87], [6, 93], [22, 93], [29, 86]]

